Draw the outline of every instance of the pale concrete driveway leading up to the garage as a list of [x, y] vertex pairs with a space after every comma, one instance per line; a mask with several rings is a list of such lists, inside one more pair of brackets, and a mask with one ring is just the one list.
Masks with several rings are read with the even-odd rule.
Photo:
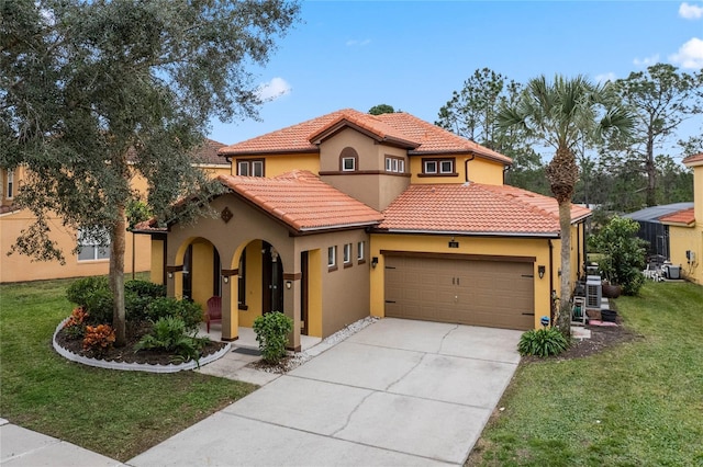
[[382, 319], [127, 465], [461, 465], [521, 334]]

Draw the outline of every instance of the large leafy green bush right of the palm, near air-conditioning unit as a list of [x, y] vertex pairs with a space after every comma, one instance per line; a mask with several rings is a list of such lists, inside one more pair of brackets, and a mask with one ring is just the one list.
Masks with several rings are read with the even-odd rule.
[[625, 295], [637, 295], [645, 283], [647, 242], [636, 237], [639, 224], [626, 217], [614, 216], [595, 235], [589, 237], [589, 247], [601, 253], [599, 270], [613, 285], [623, 287]]

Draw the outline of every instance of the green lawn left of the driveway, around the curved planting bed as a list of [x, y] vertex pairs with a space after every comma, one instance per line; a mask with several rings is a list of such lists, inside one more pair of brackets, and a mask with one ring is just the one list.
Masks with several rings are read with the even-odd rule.
[[194, 372], [116, 372], [66, 361], [51, 341], [71, 310], [69, 284], [0, 285], [0, 417], [124, 462], [256, 388]]

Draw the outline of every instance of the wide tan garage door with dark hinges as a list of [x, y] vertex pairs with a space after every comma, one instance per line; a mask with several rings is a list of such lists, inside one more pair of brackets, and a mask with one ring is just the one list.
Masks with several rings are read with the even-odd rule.
[[533, 329], [533, 267], [532, 262], [388, 255], [386, 316]]

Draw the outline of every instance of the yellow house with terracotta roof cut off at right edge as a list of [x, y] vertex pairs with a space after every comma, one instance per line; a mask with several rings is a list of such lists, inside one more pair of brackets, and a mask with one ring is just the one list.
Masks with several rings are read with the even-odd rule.
[[669, 258], [673, 265], [681, 265], [684, 278], [703, 284], [703, 153], [683, 159], [693, 169], [693, 207], [660, 217], [669, 227]]

